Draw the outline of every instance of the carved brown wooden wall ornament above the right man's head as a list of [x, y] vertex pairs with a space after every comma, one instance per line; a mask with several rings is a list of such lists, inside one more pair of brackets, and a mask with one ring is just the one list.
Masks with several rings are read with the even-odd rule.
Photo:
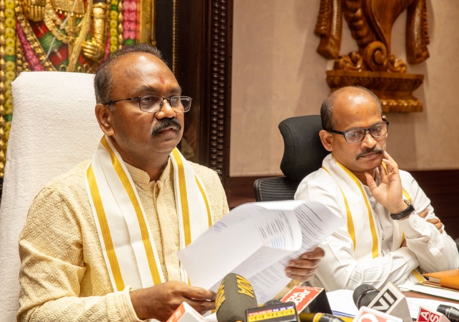
[[[327, 71], [331, 91], [359, 85], [374, 91], [385, 112], [422, 111], [413, 91], [423, 75], [408, 74], [407, 65], [390, 53], [390, 34], [395, 19], [407, 9], [406, 54], [408, 63], [428, 59], [429, 44], [425, 0], [321, 0], [316, 35], [318, 53], [335, 59]], [[339, 56], [344, 16], [358, 50]]]

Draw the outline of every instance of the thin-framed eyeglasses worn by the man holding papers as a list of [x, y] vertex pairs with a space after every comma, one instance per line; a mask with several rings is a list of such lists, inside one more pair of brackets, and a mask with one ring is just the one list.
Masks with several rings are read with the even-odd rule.
[[173, 111], [177, 113], [184, 113], [188, 112], [191, 109], [191, 97], [188, 96], [171, 96], [171, 97], [163, 97], [163, 96], [154, 96], [154, 95], [146, 95], [146, 96], [137, 96], [132, 97], [131, 99], [118, 99], [116, 101], [109, 101], [104, 105], [111, 105], [115, 104], [118, 101], [134, 101], [138, 100], [138, 107], [147, 113], [156, 113], [163, 107], [164, 100], [168, 102], [168, 104], [172, 107]]

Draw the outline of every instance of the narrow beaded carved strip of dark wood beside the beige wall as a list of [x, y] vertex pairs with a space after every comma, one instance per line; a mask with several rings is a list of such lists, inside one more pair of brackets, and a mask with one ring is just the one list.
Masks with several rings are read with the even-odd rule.
[[203, 139], [208, 144], [203, 152], [224, 184], [229, 176], [233, 0], [211, 0], [207, 8], [202, 120], [207, 129]]

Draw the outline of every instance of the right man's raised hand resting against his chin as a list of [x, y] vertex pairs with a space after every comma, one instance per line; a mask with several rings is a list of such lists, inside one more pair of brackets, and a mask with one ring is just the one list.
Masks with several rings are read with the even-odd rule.
[[381, 163], [378, 167], [381, 176], [381, 183], [379, 186], [376, 186], [373, 176], [365, 172], [368, 188], [370, 188], [371, 194], [373, 194], [376, 201], [388, 209], [390, 213], [400, 213], [404, 211], [407, 206], [403, 201], [402, 181], [398, 173], [398, 165], [386, 151], [384, 151], [383, 158], [387, 172]]

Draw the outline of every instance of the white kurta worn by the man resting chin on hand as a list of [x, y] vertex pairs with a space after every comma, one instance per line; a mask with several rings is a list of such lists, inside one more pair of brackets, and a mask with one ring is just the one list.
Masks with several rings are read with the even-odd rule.
[[[336, 166], [336, 160], [331, 154], [323, 160], [323, 166], [328, 169], [335, 168], [334, 171], [338, 172], [338, 176], [346, 176], [345, 171], [340, 172], [341, 169]], [[337, 176], [333, 178], [329, 172], [331, 171], [321, 168], [304, 178], [298, 186], [295, 198], [319, 201], [328, 206], [337, 216], [346, 220], [348, 213], [351, 213], [355, 231], [350, 232], [349, 225], [345, 224], [321, 244], [325, 257], [318, 267], [316, 276], [310, 281], [313, 286], [325, 287], [327, 291], [333, 291], [342, 288], [355, 289], [360, 284], [367, 283], [380, 288], [389, 281], [395, 285], [403, 284], [405, 281], [418, 281], [419, 274], [416, 278], [412, 273], [418, 266], [423, 272], [458, 268], [458, 248], [453, 239], [444, 229], [443, 233], [440, 233], [433, 224], [418, 216], [418, 213], [427, 208], [429, 213], [426, 218], [436, 218], [429, 198], [425, 196], [410, 173], [400, 171], [400, 178], [404, 190], [411, 198], [415, 213], [403, 221], [393, 221], [388, 210], [375, 201], [368, 186], [358, 181], [373, 213], [377, 239], [373, 244], [377, 244], [375, 251], [378, 253], [378, 256], [373, 258], [371, 251], [367, 253], [361, 251], [371, 249], [371, 246], [362, 245], [362, 236], [365, 236], [365, 243], [368, 242], [368, 245], [372, 243], [371, 236], [366, 238], [369, 234], [368, 228], [365, 228], [368, 227], [365, 226], [369, 221], [368, 211], [355, 211], [356, 208], [364, 208], [361, 206], [365, 202], [362, 193], [355, 193], [358, 190], [356, 186], [352, 186], [355, 183], [348, 183], [348, 186], [345, 186], [344, 179], [343, 181], [336, 179]], [[376, 183], [379, 184], [378, 171], [376, 176]], [[347, 202], [351, 203], [347, 210], [344, 196]], [[352, 204], [355, 202], [360, 204], [355, 206]], [[407, 240], [407, 247], [400, 247], [403, 234]], [[355, 248], [354, 241], [360, 243], [358, 245], [360, 248]]]

